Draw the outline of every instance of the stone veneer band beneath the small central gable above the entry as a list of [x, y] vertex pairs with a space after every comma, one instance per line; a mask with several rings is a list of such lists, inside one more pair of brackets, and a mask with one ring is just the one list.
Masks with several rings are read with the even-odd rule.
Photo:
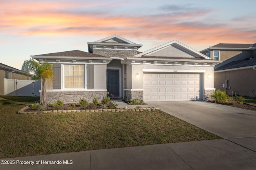
[[137, 54], [136, 50], [107, 50], [107, 49], [93, 49], [93, 54], [102, 55], [105, 57], [120, 57], [126, 59]]

